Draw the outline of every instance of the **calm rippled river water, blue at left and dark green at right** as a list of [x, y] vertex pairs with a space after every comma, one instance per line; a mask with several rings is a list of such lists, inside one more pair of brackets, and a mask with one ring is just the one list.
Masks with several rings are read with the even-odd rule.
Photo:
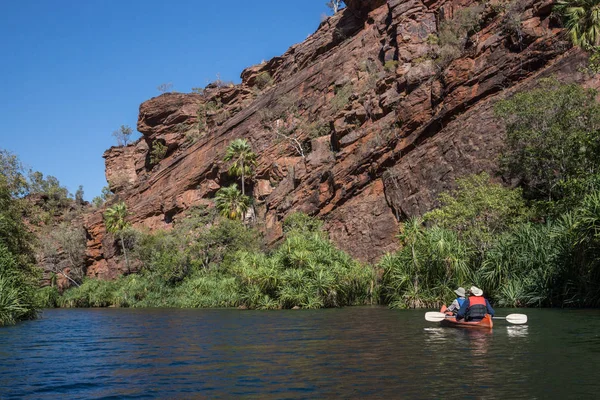
[[598, 398], [600, 311], [519, 312], [48, 310], [0, 329], [0, 398]]

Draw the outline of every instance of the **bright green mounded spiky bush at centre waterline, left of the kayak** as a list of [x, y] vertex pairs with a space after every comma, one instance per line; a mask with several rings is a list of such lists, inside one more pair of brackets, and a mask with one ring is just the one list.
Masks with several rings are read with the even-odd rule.
[[227, 263], [248, 308], [322, 308], [376, 297], [371, 268], [336, 249], [321, 232], [291, 231], [271, 255], [240, 251]]

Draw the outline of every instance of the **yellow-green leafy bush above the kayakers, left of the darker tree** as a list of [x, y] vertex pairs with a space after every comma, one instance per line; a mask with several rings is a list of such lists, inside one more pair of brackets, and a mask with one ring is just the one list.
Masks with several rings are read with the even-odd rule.
[[459, 234], [484, 251], [496, 235], [527, 220], [530, 212], [520, 189], [493, 183], [486, 173], [456, 180], [456, 189], [442, 193], [440, 208], [424, 215], [425, 221]]

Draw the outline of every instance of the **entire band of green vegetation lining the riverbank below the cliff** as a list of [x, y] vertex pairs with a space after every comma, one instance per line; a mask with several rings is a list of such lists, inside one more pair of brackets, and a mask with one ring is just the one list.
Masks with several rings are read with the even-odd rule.
[[[284, 221], [283, 240], [266, 248], [253, 222], [243, 218], [250, 201], [244, 200], [240, 208], [239, 201], [223, 194], [231, 190], [244, 196], [235, 186], [222, 189], [216, 207], [194, 207], [177, 216], [169, 231], [135, 230], [127, 223], [124, 204], [112, 204], [105, 223], [128, 273], [102, 281], [70, 272], [76, 284], [64, 292], [52, 284], [34, 298], [32, 285], [38, 278], [29, 267], [15, 267], [31, 265], [15, 258], [27, 251], [14, 244], [10, 250], [10, 240], [25, 233], [5, 234], [3, 243], [10, 251], [0, 252], [3, 271], [20, 272], [9, 281], [3, 272], [2, 285], [10, 282], [24, 288], [3, 290], [6, 304], [23, 299], [14, 303], [21, 314], [5, 321], [31, 317], [36, 304], [438, 307], [451, 301], [457, 286], [472, 284], [482, 287], [498, 306], [600, 306], [596, 95], [594, 90], [550, 79], [535, 90], [498, 102], [496, 113], [506, 125], [506, 143], [497, 171], [458, 178], [455, 189], [440, 195], [438, 208], [401, 223], [399, 250], [376, 265], [353, 260], [329, 240], [321, 221], [300, 213]], [[16, 201], [18, 196], [5, 199]], [[20, 221], [19, 212], [12, 213], [12, 221]], [[74, 260], [76, 271], [81, 235], [68, 236], [58, 246], [63, 256], [69, 255], [67, 260]], [[50, 253], [43, 254], [46, 262], [52, 259]]]

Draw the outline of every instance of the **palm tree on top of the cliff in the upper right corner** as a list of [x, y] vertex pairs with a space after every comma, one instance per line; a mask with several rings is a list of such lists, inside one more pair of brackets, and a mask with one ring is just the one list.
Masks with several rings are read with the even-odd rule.
[[575, 46], [589, 50], [600, 45], [600, 0], [559, 0], [555, 10]]

